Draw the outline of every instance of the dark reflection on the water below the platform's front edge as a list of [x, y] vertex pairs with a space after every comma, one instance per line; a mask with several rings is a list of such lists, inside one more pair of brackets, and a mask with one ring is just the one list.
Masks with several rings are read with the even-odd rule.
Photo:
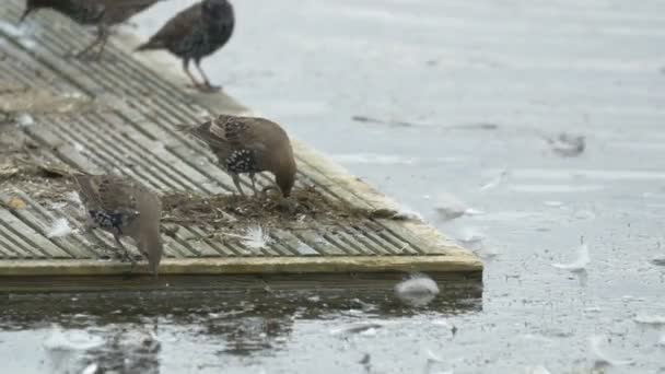
[[[394, 284], [393, 282], [389, 283]], [[16, 359], [24, 372], [159, 373], [164, 346], [186, 352], [197, 365], [217, 367], [226, 357], [270, 355], [289, 342], [294, 325], [315, 320], [345, 326], [328, 335], [369, 336], [400, 318], [432, 320], [481, 309], [477, 283], [446, 282], [427, 306], [410, 307], [388, 283], [339, 291], [176, 291], [114, 294], [9, 295], [0, 341], [40, 347], [43, 357]], [[346, 320], [353, 320], [347, 325]], [[359, 327], [360, 326], [360, 327]], [[0, 353], [12, 348], [0, 343]], [[208, 362], [208, 361], [211, 362]], [[219, 369], [219, 367], [217, 367]]]

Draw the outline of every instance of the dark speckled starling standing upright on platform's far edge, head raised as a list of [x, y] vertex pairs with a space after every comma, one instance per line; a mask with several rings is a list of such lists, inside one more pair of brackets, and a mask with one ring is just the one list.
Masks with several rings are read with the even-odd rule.
[[[194, 86], [201, 91], [217, 91], [201, 69], [201, 59], [223, 47], [233, 34], [235, 17], [233, 7], [226, 0], [203, 0], [168, 20], [148, 43], [137, 50], [167, 49], [183, 59], [183, 70]], [[189, 61], [194, 60], [203, 79], [199, 83], [189, 72]]]

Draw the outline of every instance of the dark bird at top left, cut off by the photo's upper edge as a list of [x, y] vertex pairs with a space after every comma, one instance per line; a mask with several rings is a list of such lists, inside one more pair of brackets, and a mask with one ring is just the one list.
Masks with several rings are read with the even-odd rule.
[[26, 0], [20, 22], [33, 11], [49, 8], [81, 25], [96, 25], [96, 38], [77, 56], [83, 57], [100, 46], [94, 55], [95, 59], [98, 59], [108, 40], [110, 26], [126, 22], [158, 1], [161, 0]]

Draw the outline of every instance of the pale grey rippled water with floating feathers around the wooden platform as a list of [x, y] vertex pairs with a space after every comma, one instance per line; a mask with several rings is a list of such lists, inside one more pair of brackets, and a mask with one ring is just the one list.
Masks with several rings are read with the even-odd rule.
[[665, 373], [665, 3], [234, 4], [211, 79], [477, 250], [482, 291], [11, 299], [3, 371]]

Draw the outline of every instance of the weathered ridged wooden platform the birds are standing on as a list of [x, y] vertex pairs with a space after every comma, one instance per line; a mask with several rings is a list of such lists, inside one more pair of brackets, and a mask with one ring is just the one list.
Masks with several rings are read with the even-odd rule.
[[[252, 113], [223, 93], [186, 90], [175, 59], [131, 54], [139, 43], [131, 36], [113, 38], [101, 62], [68, 58], [91, 33], [49, 11], [20, 27], [22, 9], [22, 0], [0, 8], [0, 277], [16, 287], [16, 277], [121, 274], [129, 265], [113, 259], [113, 241], [78, 230], [83, 212], [68, 170], [128, 175], [164, 195], [228, 195], [231, 179], [175, 125]], [[470, 252], [404, 217], [394, 201], [303, 143], [295, 140], [294, 149], [296, 196], [311, 192], [306, 209], [267, 219], [238, 204], [215, 208], [219, 220], [208, 215], [203, 224], [165, 219], [160, 273], [480, 276], [482, 264]], [[59, 219], [73, 232], [49, 236]], [[259, 226], [265, 245], [248, 245], [247, 234]]]

